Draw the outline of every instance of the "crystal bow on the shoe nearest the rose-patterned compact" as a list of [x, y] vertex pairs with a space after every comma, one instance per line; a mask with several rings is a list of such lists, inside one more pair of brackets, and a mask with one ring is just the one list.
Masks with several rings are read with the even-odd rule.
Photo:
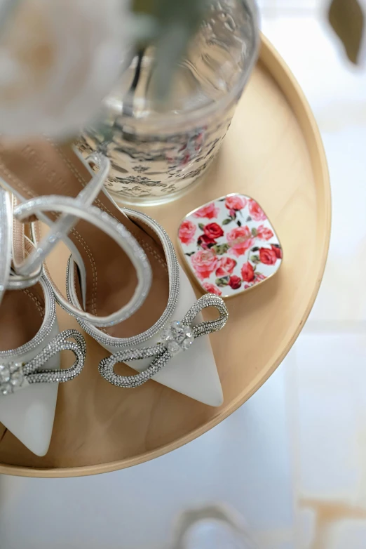
[[[192, 325], [199, 312], [206, 307], [216, 307], [219, 311], [219, 318], [208, 320]], [[224, 328], [229, 312], [222, 298], [212, 293], [202, 296], [189, 309], [182, 321], [170, 322], [168, 326], [161, 331], [161, 340], [156, 345], [140, 349], [126, 349], [116, 352], [114, 355], [103, 359], [99, 364], [101, 376], [112, 385], [123, 388], [139, 387], [146, 383], [150, 378], [156, 375], [173, 356], [179, 352], [188, 350], [196, 338], [207, 336], [209, 333], [219, 331]], [[114, 372], [114, 366], [118, 362], [129, 362], [144, 358], [154, 357], [151, 364], [144, 371], [134, 376], [118, 376]]]

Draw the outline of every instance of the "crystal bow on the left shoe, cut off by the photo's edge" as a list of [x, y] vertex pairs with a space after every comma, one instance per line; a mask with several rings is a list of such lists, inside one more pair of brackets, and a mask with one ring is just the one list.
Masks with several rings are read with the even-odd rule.
[[[76, 343], [70, 341], [73, 338]], [[48, 360], [57, 352], [70, 350], [76, 361], [67, 369], [42, 370]], [[65, 330], [59, 333], [46, 347], [29, 362], [8, 362], [0, 364], [0, 395], [10, 395], [16, 390], [27, 387], [29, 383], [65, 383], [79, 376], [86, 357], [86, 343], [81, 333]]]

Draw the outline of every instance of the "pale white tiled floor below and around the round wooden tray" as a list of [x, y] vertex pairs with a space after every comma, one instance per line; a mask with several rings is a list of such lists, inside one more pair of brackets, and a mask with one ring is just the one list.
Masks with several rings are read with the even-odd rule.
[[333, 194], [304, 332], [245, 406], [168, 456], [99, 477], [0, 477], [1, 549], [167, 549], [177, 514], [215, 501], [242, 513], [261, 549], [365, 549], [366, 71], [313, 15], [291, 13], [263, 29], [316, 114]]

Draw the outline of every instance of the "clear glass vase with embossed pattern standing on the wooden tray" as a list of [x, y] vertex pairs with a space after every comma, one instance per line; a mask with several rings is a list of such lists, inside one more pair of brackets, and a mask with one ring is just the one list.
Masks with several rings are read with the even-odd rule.
[[[116, 199], [134, 205], [170, 201], [205, 173], [230, 126], [258, 45], [253, 1], [214, 1], [159, 110], [151, 92], [154, 48], [133, 60], [104, 102], [102, 123], [89, 127], [78, 143], [83, 154], [107, 154], [106, 185]], [[126, 108], [123, 98], [132, 88]]]

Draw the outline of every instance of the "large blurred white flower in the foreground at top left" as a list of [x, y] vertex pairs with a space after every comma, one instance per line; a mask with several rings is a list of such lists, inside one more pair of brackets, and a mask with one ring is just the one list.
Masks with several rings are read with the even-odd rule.
[[[9, 1], [0, 0], [0, 10]], [[0, 133], [79, 133], [118, 79], [129, 46], [128, 4], [15, 3], [0, 21]]]

